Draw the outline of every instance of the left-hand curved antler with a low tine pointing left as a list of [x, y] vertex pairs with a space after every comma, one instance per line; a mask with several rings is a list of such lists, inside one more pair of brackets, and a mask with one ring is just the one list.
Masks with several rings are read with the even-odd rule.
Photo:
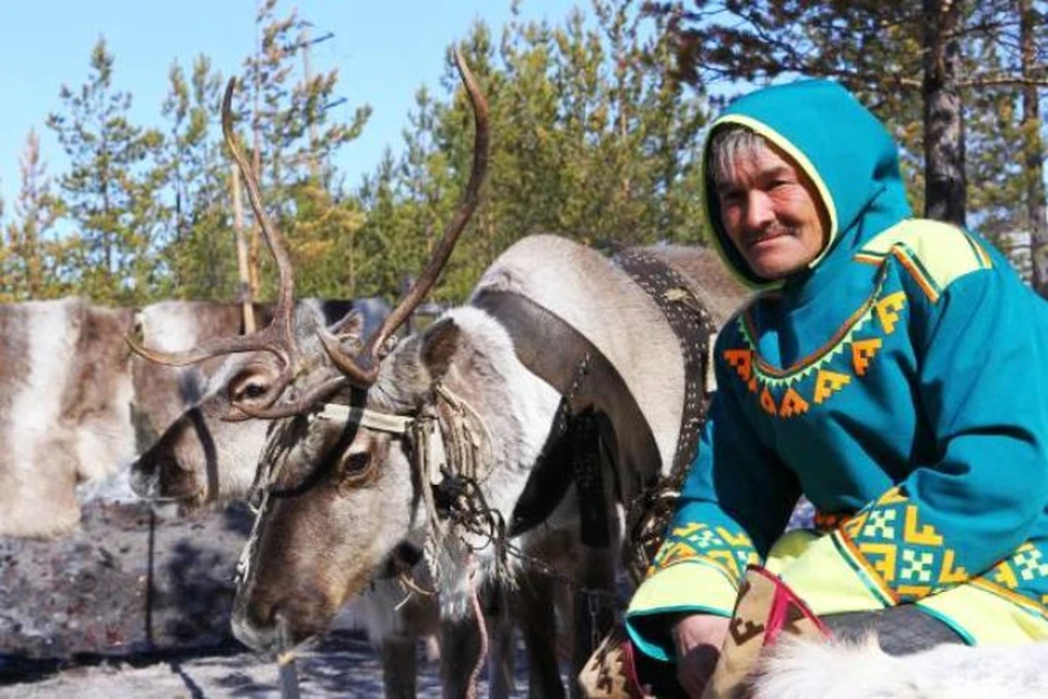
[[273, 390], [272, 392], [275, 398], [281, 394], [281, 391], [290, 382], [291, 379], [291, 357], [295, 355], [296, 351], [295, 336], [291, 328], [291, 312], [294, 310], [293, 299], [295, 297], [295, 275], [291, 269], [290, 259], [287, 254], [287, 249], [284, 244], [284, 236], [265, 215], [265, 211], [262, 208], [262, 197], [259, 193], [259, 180], [257, 174], [251, 169], [250, 165], [248, 165], [248, 161], [246, 157], [243, 157], [243, 153], [241, 153], [240, 149], [237, 146], [236, 139], [233, 133], [233, 110], [230, 105], [233, 103], [233, 91], [235, 87], [236, 79], [230, 78], [228, 84], [226, 85], [225, 95], [222, 98], [222, 135], [226, 146], [233, 154], [233, 159], [236, 162], [237, 168], [240, 170], [240, 175], [242, 176], [247, 186], [248, 200], [251, 202], [251, 211], [254, 212], [254, 217], [259, 222], [259, 226], [262, 228], [262, 235], [265, 238], [265, 244], [269, 247], [270, 252], [273, 254], [273, 259], [276, 262], [277, 272], [279, 273], [279, 287], [273, 319], [265, 328], [258, 332], [249, 333], [247, 335], [216, 337], [200, 344], [193, 350], [188, 350], [184, 352], [162, 352], [159, 350], [151, 350], [140, 345], [130, 336], [126, 337], [126, 340], [131, 346], [131, 350], [136, 354], [140, 354], [152, 362], [172, 366], [196, 364], [199, 362], [203, 362], [204, 359], [223, 354], [241, 352], [273, 353], [277, 356], [283, 365], [281, 375], [277, 378], [275, 386], [275, 389], [278, 390]]

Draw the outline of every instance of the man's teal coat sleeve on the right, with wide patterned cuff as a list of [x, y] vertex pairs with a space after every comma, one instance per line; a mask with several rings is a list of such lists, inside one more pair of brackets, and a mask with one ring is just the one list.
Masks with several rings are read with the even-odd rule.
[[915, 308], [916, 394], [934, 458], [783, 572], [814, 612], [919, 601], [1027, 540], [1048, 503], [1045, 311], [992, 269]]

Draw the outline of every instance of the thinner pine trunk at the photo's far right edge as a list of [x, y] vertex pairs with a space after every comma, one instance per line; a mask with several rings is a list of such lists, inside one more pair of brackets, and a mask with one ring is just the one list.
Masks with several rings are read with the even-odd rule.
[[[1032, 81], [1031, 71], [1037, 61], [1033, 0], [1019, 0], [1019, 32], [1023, 78]], [[1023, 86], [1023, 134], [1025, 137], [1026, 220], [1029, 226], [1029, 249], [1033, 261], [1034, 288], [1048, 298], [1048, 218], [1045, 214], [1044, 163], [1040, 141], [1040, 100], [1037, 85]]]

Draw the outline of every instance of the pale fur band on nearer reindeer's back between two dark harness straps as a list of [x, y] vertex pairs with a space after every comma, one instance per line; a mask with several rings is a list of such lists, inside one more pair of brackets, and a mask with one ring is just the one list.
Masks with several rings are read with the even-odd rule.
[[[540, 260], [540, 262], [536, 262]], [[596, 250], [538, 235], [514, 244], [485, 272], [475, 291], [515, 292], [548, 308], [598, 347], [622, 376], [648, 419], [663, 465], [677, 448], [683, 405], [683, 362], [653, 360], [652, 347], [677, 337], [663, 311], [629, 275]], [[628, 334], [634, 334], [632, 339]], [[644, 337], [636, 341], [636, 335]]]

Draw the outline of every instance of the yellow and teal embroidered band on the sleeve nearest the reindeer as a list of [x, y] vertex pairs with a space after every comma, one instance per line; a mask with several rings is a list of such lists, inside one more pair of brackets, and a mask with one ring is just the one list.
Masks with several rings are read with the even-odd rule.
[[738, 582], [746, 567], [760, 564], [761, 558], [746, 532], [693, 522], [669, 531], [655, 554], [647, 577], [684, 560], [711, 565]]

